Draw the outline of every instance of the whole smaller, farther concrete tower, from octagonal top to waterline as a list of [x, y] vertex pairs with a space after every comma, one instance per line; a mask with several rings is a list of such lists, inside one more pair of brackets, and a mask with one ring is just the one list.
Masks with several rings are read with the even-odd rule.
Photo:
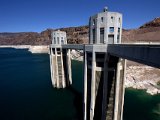
[[50, 49], [52, 84], [56, 88], [65, 88], [72, 84], [70, 50], [62, 49], [67, 44], [66, 32], [53, 31]]

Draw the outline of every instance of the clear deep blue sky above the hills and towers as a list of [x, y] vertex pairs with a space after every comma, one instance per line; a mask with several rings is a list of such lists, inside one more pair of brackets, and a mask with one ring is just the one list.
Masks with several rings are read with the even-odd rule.
[[104, 6], [121, 12], [127, 29], [160, 17], [160, 0], [0, 0], [0, 32], [87, 25]]

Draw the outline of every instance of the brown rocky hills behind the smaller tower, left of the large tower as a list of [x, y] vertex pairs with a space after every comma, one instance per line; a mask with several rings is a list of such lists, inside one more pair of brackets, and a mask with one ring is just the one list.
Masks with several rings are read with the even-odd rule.
[[[47, 29], [41, 33], [0, 33], [0, 45], [49, 45], [53, 30]], [[83, 44], [88, 41], [88, 26], [60, 28], [60, 30], [67, 32], [68, 43]]]

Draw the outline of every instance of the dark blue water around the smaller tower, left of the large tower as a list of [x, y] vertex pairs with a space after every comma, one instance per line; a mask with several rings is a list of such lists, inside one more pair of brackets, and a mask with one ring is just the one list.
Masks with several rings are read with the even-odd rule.
[[48, 54], [0, 49], [0, 120], [76, 119], [75, 93], [81, 97], [81, 73], [73, 71], [79, 76], [74, 77], [77, 90], [57, 90], [51, 84]]

